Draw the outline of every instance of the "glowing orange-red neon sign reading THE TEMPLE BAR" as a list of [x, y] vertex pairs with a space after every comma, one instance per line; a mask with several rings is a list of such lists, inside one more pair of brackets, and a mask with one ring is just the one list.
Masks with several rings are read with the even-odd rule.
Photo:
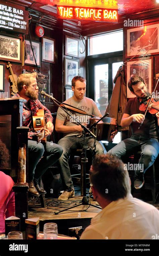
[[117, 22], [117, 9], [57, 6], [59, 19]]

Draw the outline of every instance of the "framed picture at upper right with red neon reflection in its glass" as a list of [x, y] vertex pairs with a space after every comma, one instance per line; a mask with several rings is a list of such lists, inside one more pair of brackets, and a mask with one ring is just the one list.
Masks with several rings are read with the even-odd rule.
[[127, 29], [126, 58], [159, 53], [159, 24]]

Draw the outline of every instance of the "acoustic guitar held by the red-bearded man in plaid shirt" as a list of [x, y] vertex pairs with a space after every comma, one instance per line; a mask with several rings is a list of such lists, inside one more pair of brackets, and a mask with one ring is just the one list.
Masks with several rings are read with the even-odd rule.
[[40, 132], [42, 127], [46, 128], [45, 113], [44, 113], [44, 109], [38, 109], [38, 111], [35, 114], [35, 116], [33, 116], [33, 128], [34, 128], [34, 132], [38, 133], [37, 134], [38, 137], [39, 137], [39, 141], [38, 142], [41, 141], [42, 143], [46, 143], [47, 139], [44, 138], [45, 130]]

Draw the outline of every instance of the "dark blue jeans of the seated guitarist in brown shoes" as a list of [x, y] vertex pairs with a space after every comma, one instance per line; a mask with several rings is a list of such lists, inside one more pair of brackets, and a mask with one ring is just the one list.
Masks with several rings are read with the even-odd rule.
[[[62, 148], [55, 143], [47, 141], [43, 145], [34, 140], [28, 140], [29, 182], [33, 179], [39, 180], [41, 175], [43, 175], [50, 166], [56, 163], [62, 155], [62, 152]], [[43, 158], [41, 159], [42, 156]]]

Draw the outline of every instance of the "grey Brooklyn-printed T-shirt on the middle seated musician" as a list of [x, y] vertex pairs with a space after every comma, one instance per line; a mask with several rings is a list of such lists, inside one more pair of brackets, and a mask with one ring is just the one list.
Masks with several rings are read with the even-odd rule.
[[[84, 97], [82, 100], [80, 100], [80, 102], [73, 100], [73, 98], [71, 97], [68, 100], [65, 100], [63, 103], [66, 103], [73, 107], [79, 108], [80, 110], [84, 110], [85, 112], [92, 114], [94, 116], [97, 116], [97, 117], [99, 117], [99, 115], [100, 115], [100, 111], [99, 111], [96, 103], [92, 99], [87, 98], [87, 97]], [[77, 118], [81, 123], [83, 123], [83, 124], [89, 123], [89, 120], [90, 120], [89, 116], [81, 115], [81, 114], [75, 113], [74, 111], [71, 111], [71, 110], [68, 110], [68, 112], [74, 118]], [[58, 108], [58, 111], [57, 111], [57, 119], [64, 121], [63, 125], [66, 125], [66, 126], [74, 126], [74, 124], [76, 123], [76, 121], [73, 120], [73, 118], [71, 118], [67, 113], [65, 113], [64, 110], [61, 109], [60, 107]], [[77, 135], [77, 134], [79, 134], [79, 131], [64, 133], [64, 136], [66, 137], [66, 136], [72, 136], [72, 135]]]

